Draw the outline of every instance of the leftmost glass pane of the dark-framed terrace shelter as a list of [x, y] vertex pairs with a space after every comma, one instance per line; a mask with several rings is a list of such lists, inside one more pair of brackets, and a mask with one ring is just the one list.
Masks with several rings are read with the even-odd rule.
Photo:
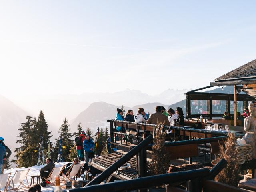
[[190, 100], [191, 114], [210, 114], [210, 101], [209, 100]]

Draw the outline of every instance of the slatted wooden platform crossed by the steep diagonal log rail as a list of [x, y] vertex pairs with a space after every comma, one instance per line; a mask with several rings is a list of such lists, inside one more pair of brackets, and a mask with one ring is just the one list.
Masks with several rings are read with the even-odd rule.
[[[121, 157], [122, 157], [122, 155], [120, 155], [120, 154], [110, 153], [110, 154], [104, 155], [102, 157], [92, 159], [91, 165], [100, 171], [104, 171], [109, 166], [114, 164], [114, 162], [119, 160]], [[119, 178], [121, 180], [130, 180], [130, 179], [137, 178], [138, 173], [137, 173], [136, 158], [130, 159], [127, 163], [130, 164], [130, 168], [128, 168], [126, 170], [116, 170], [112, 174], [112, 176]]]

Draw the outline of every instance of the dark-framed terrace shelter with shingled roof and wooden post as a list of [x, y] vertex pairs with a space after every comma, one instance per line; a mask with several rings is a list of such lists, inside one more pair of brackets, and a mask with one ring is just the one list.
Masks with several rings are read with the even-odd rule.
[[[234, 86], [234, 94], [221, 94], [221, 93], [197, 93], [195, 91], [202, 90], [205, 88], [210, 88], [213, 86]], [[238, 94], [241, 91], [246, 94]], [[253, 60], [247, 64], [244, 64], [214, 80], [210, 83], [210, 86], [200, 88], [197, 90], [192, 90], [186, 93], [186, 116], [195, 117], [198, 114], [191, 113], [191, 101], [192, 100], [203, 100], [205, 113], [203, 116], [206, 117], [218, 117], [223, 114], [213, 114], [212, 113], [212, 101], [223, 101], [223, 105], [226, 105], [226, 109], [230, 114], [230, 103], [234, 100], [234, 125], [236, 125], [236, 112], [237, 112], [237, 101], [241, 101], [243, 106], [248, 106], [248, 102], [256, 100], [256, 60]], [[207, 103], [209, 102], [209, 103]], [[201, 110], [201, 111], [202, 111]]]

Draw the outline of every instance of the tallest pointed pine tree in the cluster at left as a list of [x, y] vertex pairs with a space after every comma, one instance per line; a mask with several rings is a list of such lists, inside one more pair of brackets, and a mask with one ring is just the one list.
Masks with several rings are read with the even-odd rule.
[[[44, 113], [42, 110], [40, 110], [40, 113], [38, 115], [38, 121], [37, 121], [37, 143], [40, 143], [40, 136], [43, 136], [43, 146], [44, 149], [48, 149], [49, 140], [52, 137], [50, 135], [52, 132], [48, 132], [48, 124], [44, 118]], [[50, 148], [52, 148], [52, 142], [50, 142]]]

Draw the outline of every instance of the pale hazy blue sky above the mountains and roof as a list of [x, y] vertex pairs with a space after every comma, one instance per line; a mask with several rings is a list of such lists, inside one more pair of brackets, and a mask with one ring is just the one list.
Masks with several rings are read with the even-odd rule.
[[0, 94], [200, 88], [256, 58], [255, 1], [1, 0]]

